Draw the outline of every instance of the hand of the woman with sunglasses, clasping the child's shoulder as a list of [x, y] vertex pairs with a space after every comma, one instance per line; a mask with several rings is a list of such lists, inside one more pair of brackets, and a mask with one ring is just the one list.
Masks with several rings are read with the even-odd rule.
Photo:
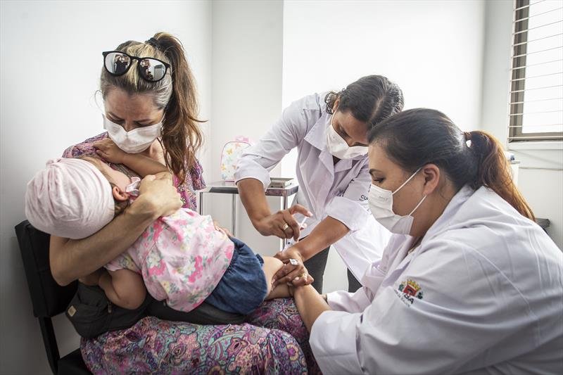
[[172, 185], [172, 177], [168, 172], [157, 175], [149, 174], [141, 179], [139, 198], [127, 210], [131, 213], [151, 212], [154, 219], [160, 216], [172, 215], [182, 208], [182, 199], [177, 189]]

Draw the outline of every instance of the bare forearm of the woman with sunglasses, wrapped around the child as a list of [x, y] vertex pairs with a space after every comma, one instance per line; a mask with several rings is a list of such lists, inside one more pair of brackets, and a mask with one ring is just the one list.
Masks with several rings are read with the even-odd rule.
[[60, 285], [95, 272], [123, 253], [154, 220], [156, 211], [142, 197], [106, 227], [86, 239], [51, 236], [49, 258], [53, 278]]

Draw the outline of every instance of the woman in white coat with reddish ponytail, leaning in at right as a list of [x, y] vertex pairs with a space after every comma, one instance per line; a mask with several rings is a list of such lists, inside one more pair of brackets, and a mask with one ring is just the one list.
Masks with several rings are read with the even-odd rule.
[[502, 146], [443, 113], [369, 134], [369, 205], [395, 234], [358, 292], [294, 298], [324, 374], [563, 374], [563, 254]]

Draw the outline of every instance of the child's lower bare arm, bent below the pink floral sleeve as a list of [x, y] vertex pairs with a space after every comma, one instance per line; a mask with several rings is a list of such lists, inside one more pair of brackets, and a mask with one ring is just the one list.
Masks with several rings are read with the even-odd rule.
[[103, 272], [98, 283], [111, 302], [125, 309], [136, 309], [146, 297], [143, 278], [129, 269]]

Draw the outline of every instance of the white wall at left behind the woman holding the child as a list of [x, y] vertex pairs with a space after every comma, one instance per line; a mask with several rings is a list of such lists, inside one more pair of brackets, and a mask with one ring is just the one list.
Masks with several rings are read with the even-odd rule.
[[[167, 31], [184, 42], [210, 115], [210, 4], [206, 1], [1, 1], [0, 373], [49, 374], [13, 227], [25, 184], [47, 159], [103, 131], [92, 100], [101, 52]], [[204, 167], [208, 160], [202, 158]], [[61, 354], [78, 346], [55, 319]]]

